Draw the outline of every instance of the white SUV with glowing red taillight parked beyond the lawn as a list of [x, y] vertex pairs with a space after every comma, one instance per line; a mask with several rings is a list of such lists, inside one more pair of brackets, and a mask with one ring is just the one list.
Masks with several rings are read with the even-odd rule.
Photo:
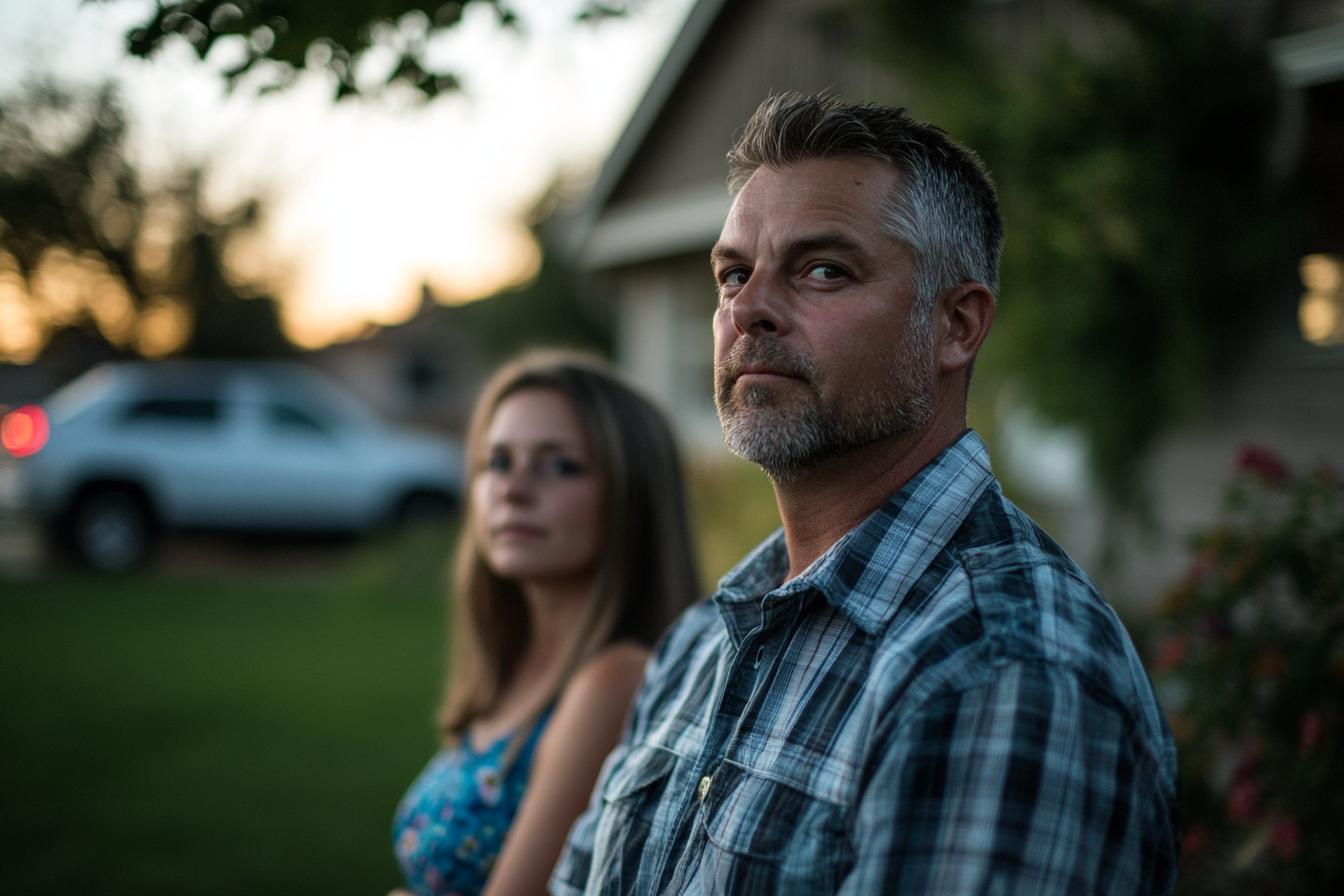
[[22, 502], [99, 570], [140, 563], [161, 528], [367, 532], [461, 501], [454, 442], [392, 429], [302, 364], [102, 364], [46, 420], [20, 412], [50, 423], [44, 445], [7, 439]]

